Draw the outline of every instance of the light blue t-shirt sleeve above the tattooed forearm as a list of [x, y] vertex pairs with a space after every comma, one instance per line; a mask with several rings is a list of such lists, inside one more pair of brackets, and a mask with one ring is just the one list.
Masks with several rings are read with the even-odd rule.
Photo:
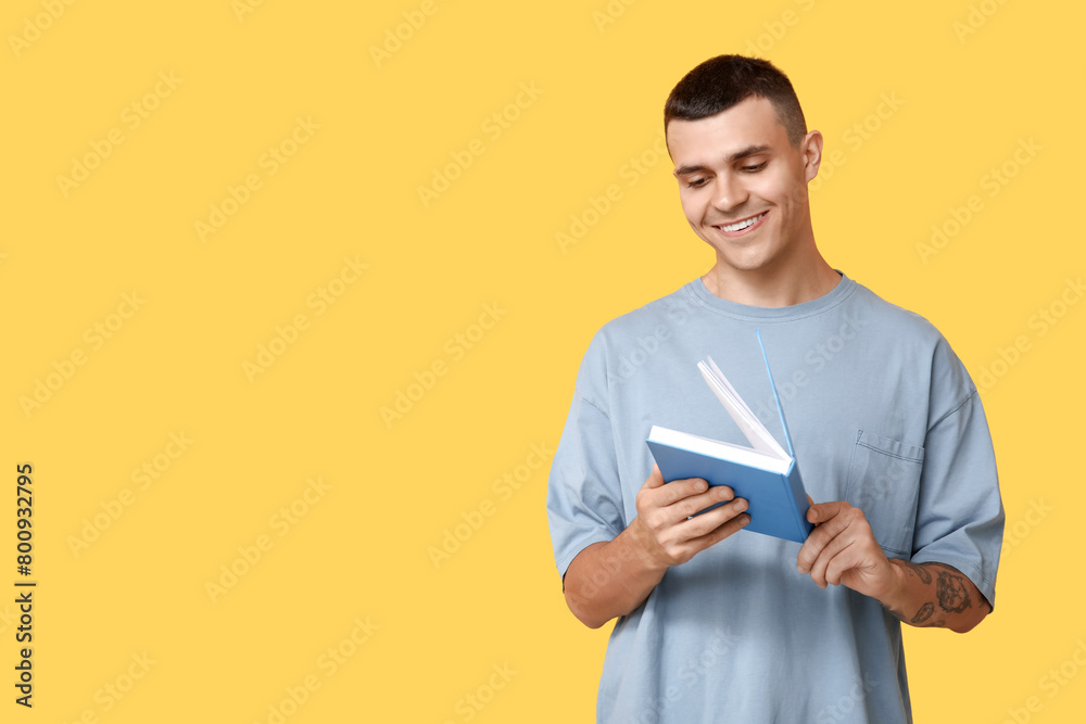
[[[933, 392], [956, 389], [960, 402], [936, 410], [924, 442], [912, 561], [955, 567], [995, 606], [1005, 515], [992, 436], [964, 367], [948, 347], [942, 353], [946, 364], [942, 373], [936, 364]], [[954, 399], [933, 394], [939, 397]]]

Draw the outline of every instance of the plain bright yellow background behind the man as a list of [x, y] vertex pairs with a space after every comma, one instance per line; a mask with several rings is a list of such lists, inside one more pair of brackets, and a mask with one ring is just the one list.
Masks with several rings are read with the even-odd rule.
[[[653, 145], [686, 71], [752, 49], [841, 152], [812, 193], [828, 259], [927, 317], [974, 379], [994, 370], [996, 612], [967, 636], [907, 632], [917, 721], [1079, 721], [1086, 305], [1057, 304], [1086, 268], [1079, 5], [13, 0], [0, 15], [3, 721], [592, 721], [610, 626], [565, 608], [533, 450], [557, 444], [592, 333], [710, 265]], [[88, 155], [86, 180], [59, 181]], [[985, 187], [1005, 164], [1013, 178]], [[245, 202], [201, 234], [231, 189]], [[981, 211], [922, 258], [974, 194]], [[563, 249], [571, 216], [592, 224]], [[321, 308], [321, 289], [341, 294]], [[1062, 313], [1044, 333], [1043, 309]], [[300, 315], [293, 344], [274, 343]], [[247, 374], [262, 345], [282, 354]], [[39, 382], [55, 389], [26, 406]], [[400, 393], [416, 399], [382, 418]], [[24, 461], [33, 710], [13, 703], [9, 602]], [[160, 470], [142, 487], [144, 465]], [[291, 505], [304, 513], [283, 530]]]

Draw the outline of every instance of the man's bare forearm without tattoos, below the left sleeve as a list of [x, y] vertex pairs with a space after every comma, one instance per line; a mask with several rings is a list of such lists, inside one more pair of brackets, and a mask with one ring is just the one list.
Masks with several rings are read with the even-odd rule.
[[563, 580], [566, 604], [584, 625], [598, 628], [641, 606], [667, 572], [649, 561], [639, 536], [640, 518], [607, 543], [579, 552]]

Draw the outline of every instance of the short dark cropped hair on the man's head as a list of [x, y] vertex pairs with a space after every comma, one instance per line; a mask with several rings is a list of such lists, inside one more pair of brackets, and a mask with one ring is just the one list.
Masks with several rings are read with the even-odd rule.
[[776, 119], [799, 148], [807, 122], [788, 76], [769, 61], [744, 55], [717, 55], [683, 76], [664, 104], [664, 129], [671, 120], [699, 120], [756, 96], [773, 104]]

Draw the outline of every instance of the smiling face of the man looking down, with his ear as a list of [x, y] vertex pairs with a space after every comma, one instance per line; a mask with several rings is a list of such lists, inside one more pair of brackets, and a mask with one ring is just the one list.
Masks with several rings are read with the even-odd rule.
[[765, 98], [750, 97], [699, 120], [671, 120], [668, 149], [679, 199], [718, 264], [770, 270], [813, 244], [807, 182], [818, 173], [822, 136], [795, 149]]

